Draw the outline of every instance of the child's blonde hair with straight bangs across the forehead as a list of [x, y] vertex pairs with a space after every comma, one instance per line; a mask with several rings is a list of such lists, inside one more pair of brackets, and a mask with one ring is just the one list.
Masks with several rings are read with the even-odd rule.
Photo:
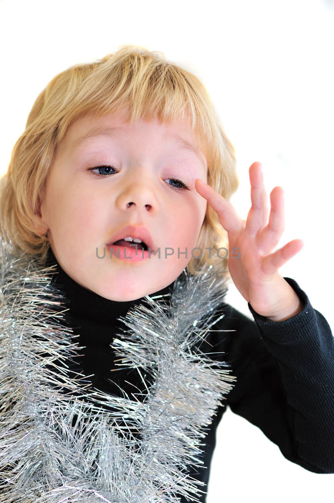
[[[45, 187], [57, 145], [81, 115], [118, 114], [126, 109], [130, 110], [127, 122], [131, 123], [157, 118], [169, 124], [187, 112], [207, 158], [208, 184], [230, 199], [239, 185], [235, 150], [204, 85], [190, 71], [167, 61], [163, 53], [124, 45], [96, 62], [76, 64], [60, 72], [37, 97], [2, 179], [3, 237], [20, 250], [40, 256], [44, 263], [49, 241], [47, 233], [36, 233], [36, 215], [40, 215], [40, 190]], [[209, 263], [230, 278], [228, 258], [216, 253], [220, 247], [228, 249], [227, 243], [226, 231], [207, 204], [197, 241], [202, 257], [191, 258], [189, 272], [196, 274]], [[206, 246], [214, 248], [211, 258]]]

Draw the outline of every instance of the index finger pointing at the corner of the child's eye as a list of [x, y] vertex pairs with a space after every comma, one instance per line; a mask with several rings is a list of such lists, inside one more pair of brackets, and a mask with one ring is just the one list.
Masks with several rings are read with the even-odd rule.
[[195, 180], [195, 189], [204, 197], [218, 215], [219, 222], [227, 232], [244, 228], [244, 224], [233, 206], [200, 178]]

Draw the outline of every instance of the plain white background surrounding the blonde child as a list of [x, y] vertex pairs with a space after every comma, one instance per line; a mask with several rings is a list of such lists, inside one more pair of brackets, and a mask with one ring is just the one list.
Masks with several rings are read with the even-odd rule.
[[[304, 248], [280, 273], [333, 328], [333, 34], [329, 0], [0, 0], [0, 174], [54, 75], [126, 43], [161, 51], [193, 71], [217, 107], [236, 148], [240, 187], [231, 203], [240, 216], [250, 208], [254, 161], [263, 163], [268, 198], [283, 187], [286, 229], [276, 249], [295, 238]], [[252, 318], [233, 286], [227, 300]], [[331, 501], [333, 482], [286, 460], [230, 409], [224, 414], [208, 503]]]

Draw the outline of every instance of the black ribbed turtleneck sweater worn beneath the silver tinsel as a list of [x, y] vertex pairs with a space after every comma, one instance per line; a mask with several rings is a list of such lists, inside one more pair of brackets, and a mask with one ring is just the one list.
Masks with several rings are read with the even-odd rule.
[[[110, 344], [119, 328], [126, 328], [117, 318], [143, 299], [117, 302], [81, 287], [62, 270], [51, 248], [48, 264], [57, 265], [58, 274], [52, 281], [67, 299], [65, 322], [79, 335], [78, 345], [86, 347], [76, 358], [83, 373], [94, 374], [89, 380], [99, 390], [122, 396], [114, 381], [129, 398], [134, 399], [131, 393], [135, 393], [142, 400], [145, 389], [138, 373], [115, 366]], [[190, 470], [206, 484], [216, 428], [226, 405], [259, 427], [289, 461], [314, 473], [334, 473], [334, 339], [326, 319], [313, 309], [297, 282], [284, 279], [302, 301], [301, 312], [277, 322], [261, 316], [248, 303], [253, 321], [223, 303], [217, 314], [225, 316], [209, 331], [206, 340], [210, 344], [201, 347], [203, 351], [207, 348], [211, 358], [226, 362], [237, 377], [203, 439], [207, 468]], [[174, 282], [154, 295], [167, 294], [168, 302], [173, 286]], [[111, 372], [113, 369], [117, 370]], [[205, 494], [200, 501], [205, 503]]]

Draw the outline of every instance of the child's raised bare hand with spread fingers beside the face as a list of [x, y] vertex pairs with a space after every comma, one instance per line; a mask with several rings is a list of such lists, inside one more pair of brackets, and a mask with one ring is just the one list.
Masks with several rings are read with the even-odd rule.
[[[268, 222], [268, 196], [260, 162], [250, 166], [249, 181], [252, 206], [246, 220], [241, 220], [233, 206], [199, 178], [195, 181], [195, 189], [216, 211], [220, 224], [227, 231], [228, 269], [236, 288], [256, 312], [274, 321], [283, 321], [297, 314], [303, 306], [278, 270], [302, 249], [304, 243], [294, 239], [270, 253], [284, 231], [283, 188], [277, 186], [270, 193]], [[239, 258], [235, 258], [233, 248], [238, 248]]]

